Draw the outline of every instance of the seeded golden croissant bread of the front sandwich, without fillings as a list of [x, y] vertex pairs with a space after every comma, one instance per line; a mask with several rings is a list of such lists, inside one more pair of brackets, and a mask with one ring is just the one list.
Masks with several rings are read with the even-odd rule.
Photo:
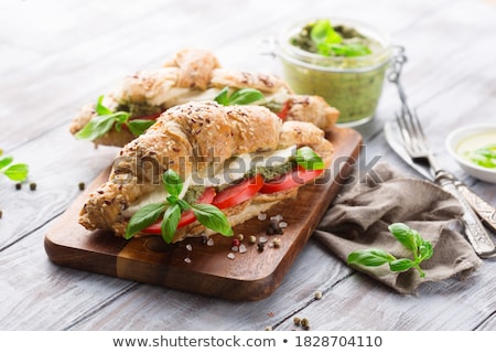
[[[173, 107], [149, 130], [126, 145], [115, 159], [109, 180], [89, 195], [79, 215], [87, 229], [111, 229], [118, 236], [126, 233], [123, 211], [131, 203], [162, 188], [161, 175], [172, 169], [183, 180], [192, 172], [205, 172], [209, 163], [261, 150], [276, 150], [293, 145], [310, 146], [331, 164], [333, 145], [324, 131], [310, 122], [285, 121], [259, 106], [224, 107], [213, 101], [192, 101]], [[256, 212], [294, 196], [291, 193], [257, 195], [247, 205], [249, 211], [225, 210], [233, 224], [239, 224]], [[239, 212], [238, 212], [239, 211]], [[241, 213], [241, 211], [244, 213]], [[195, 227], [198, 225], [195, 225]], [[187, 227], [177, 232], [174, 242], [205, 232]]]

